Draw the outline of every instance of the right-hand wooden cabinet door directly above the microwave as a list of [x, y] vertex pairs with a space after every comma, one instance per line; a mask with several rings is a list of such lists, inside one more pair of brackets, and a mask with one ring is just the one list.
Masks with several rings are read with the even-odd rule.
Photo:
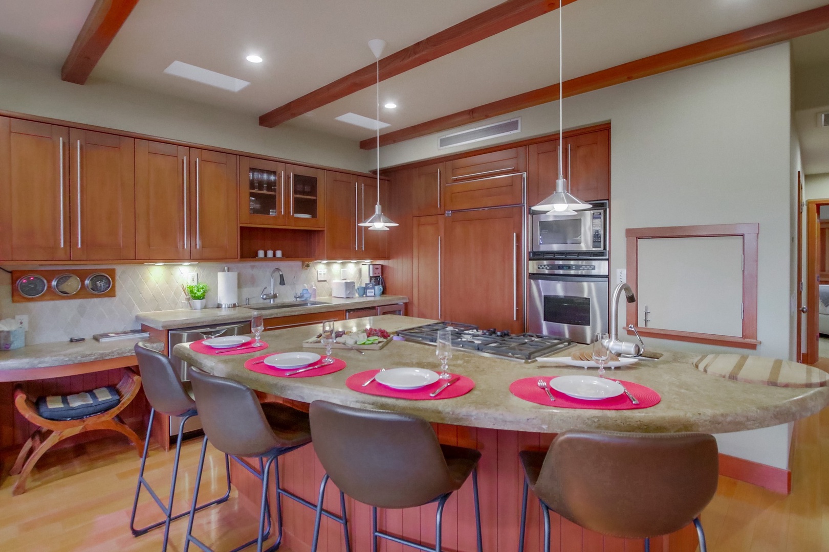
[[610, 131], [565, 138], [563, 153], [571, 194], [582, 201], [610, 199]]

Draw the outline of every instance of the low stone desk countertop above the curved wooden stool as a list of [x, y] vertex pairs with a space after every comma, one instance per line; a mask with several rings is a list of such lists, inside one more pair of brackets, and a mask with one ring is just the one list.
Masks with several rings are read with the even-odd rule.
[[100, 343], [95, 339], [86, 339], [80, 343], [59, 341], [56, 343], [38, 343], [26, 345], [12, 351], [0, 351], [0, 370], [20, 370], [23, 368], [46, 368], [94, 362], [108, 358], [129, 357], [135, 354], [133, 347], [141, 341], [157, 351], [164, 350], [164, 343], [158, 339], [118, 339]]

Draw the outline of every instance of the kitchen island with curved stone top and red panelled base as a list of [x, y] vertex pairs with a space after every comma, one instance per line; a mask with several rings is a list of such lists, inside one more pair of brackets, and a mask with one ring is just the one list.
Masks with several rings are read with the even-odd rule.
[[[347, 320], [342, 329], [371, 325], [389, 331], [404, 329], [431, 320], [400, 316]], [[264, 334], [269, 352], [301, 350], [302, 341], [319, 331], [318, 326], [286, 329]], [[570, 354], [568, 349], [562, 354]], [[642, 432], [703, 431], [725, 433], [778, 425], [811, 415], [829, 404], [829, 389], [783, 388], [732, 382], [711, 376], [693, 367], [696, 355], [666, 353], [657, 362], [638, 362], [609, 375], [652, 387], [662, 401], [643, 410], [566, 410], [541, 406], [512, 396], [509, 384], [522, 377], [557, 376], [584, 373], [583, 369], [545, 367], [487, 358], [456, 351], [450, 361], [452, 372], [471, 377], [476, 387], [465, 396], [442, 401], [406, 401], [370, 396], [348, 390], [345, 380], [351, 374], [381, 367], [424, 367], [437, 369], [435, 350], [420, 343], [395, 341], [380, 351], [359, 353], [337, 349], [335, 355], [348, 363], [345, 370], [321, 377], [288, 379], [250, 372], [243, 366], [254, 355], [213, 357], [193, 353], [186, 344], [177, 345], [174, 353], [206, 371], [230, 377], [259, 391], [263, 398], [288, 401], [303, 407], [324, 399], [349, 406], [398, 410], [433, 422], [441, 442], [480, 449], [481, 507], [485, 550], [516, 550], [518, 514], [523, 475], [517, 453], [521, 449], [545, 449], [556, 433], [568, 430], [621, 430]], [[261, 354], [261, 353], [257, 353]], [[322, 468], [313, 454], [313, 445], [288, 454], [280, 461], [284, 486], [313, 500], [322, 478]], [[257, 502], [255, 481], [235, 473], [240, 494]], [[327, 493], [336, 497], [336, 493]], [[472, 490], [463, 487], [447, 503], [444, 514], [446, 550], [474, 550]], [[285, 531], [289, 550], [308, 550], [313, 527], [313, 512], [286, 501]], [[336, 510], [334, 504], [328, 505]], [[434, 539], [434, 505], [406, 511], [384, 511], [381, 527], [425, 542]], [[347, 506], [351, 521], [354, 550], [370, 549], [369, 509], [353, 501]], [[540, 515], [531, 501], [528, 517], [528, 552], [541, 550]], [[553, 516], [554, 540], [560, 550], [625, 550], [625, 542], [582, 530]], [[344, 550], [341, 528], [333, 521], [323, 521], [320, 550]], [[658, 540], [662, 550], [695, 550], [696, 536], [686, 529]], [[627, 544], [639, 546], [635, 542]], [[656, 548], [654, 550], [658, 550]]]

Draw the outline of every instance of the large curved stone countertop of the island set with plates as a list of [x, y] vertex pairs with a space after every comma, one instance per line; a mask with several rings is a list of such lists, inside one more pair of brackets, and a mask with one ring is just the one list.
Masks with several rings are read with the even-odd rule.
[[[360, 319], [389, 331], [426, 324], [433, 320], [384, 315]], [[351, 329], [356, 320], [337, 323]], [[283, 329], [263, 334], [270, 352], [302, 350], [302, 341], [318, 334], [319, 326]], [[562, 355], [570, 355], [568, 348]], [[467, 395], [441, 401], [406, 401], [351, 391], [347, 377], [381, 367], [424, 367], [437, 370], [434, 346], [393, 341], [379, 351], [337, 349], [336, 355], [348, 364], [345, 370], [327, 376], [290, 379], [269, 377], [245, 369], [248, 355], [211, 356], [193, 353], [186, 343], [174, 353], [191, 364], [220, 376], [231, 377], [258, 391], [295, 401], [318, 399], [347, 406], [398, 410], [424, 417], [430, 422], [499, 430], [558, 433], [564, 430], [616, 430], [648, 433], [702, 431], [728, 433], [754, 430], [804, 418], [829, 405], [829, 387], [792, 388], [733, 382], [697, 370], [692, 362], [699, 355], [663, 351], [656, 362], [640, 361], [608, 375], [652, 387], [662, 402], [642, 410], [575, 410], [541, 406], [522, 401], [509, 391], [511, 382], [522, 377], [584, 374], [583, 368], [523, 364], [501, 358], [487, 358], [456, 350], [450, 361], [452, 372], [471, 377], [475, 389]], [[590, 373], [595, 374], [591, 371]]]

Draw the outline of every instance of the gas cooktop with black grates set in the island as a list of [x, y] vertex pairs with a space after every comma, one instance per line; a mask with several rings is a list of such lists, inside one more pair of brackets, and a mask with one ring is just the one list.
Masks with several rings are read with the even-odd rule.
[[541, 334], [512, 335], [507, 331], [478, 329], [478, 326], [458, 322], [435, 322], [403, 329], [397, 334], [406, 341], [434, 344], [438, 342], [438, 331], [441, 329], [448, 329], [452, 334], [453, 347], [522, 362], [534, 362], [538, 357], [558, 353], [573, 344], [567, 338]]

